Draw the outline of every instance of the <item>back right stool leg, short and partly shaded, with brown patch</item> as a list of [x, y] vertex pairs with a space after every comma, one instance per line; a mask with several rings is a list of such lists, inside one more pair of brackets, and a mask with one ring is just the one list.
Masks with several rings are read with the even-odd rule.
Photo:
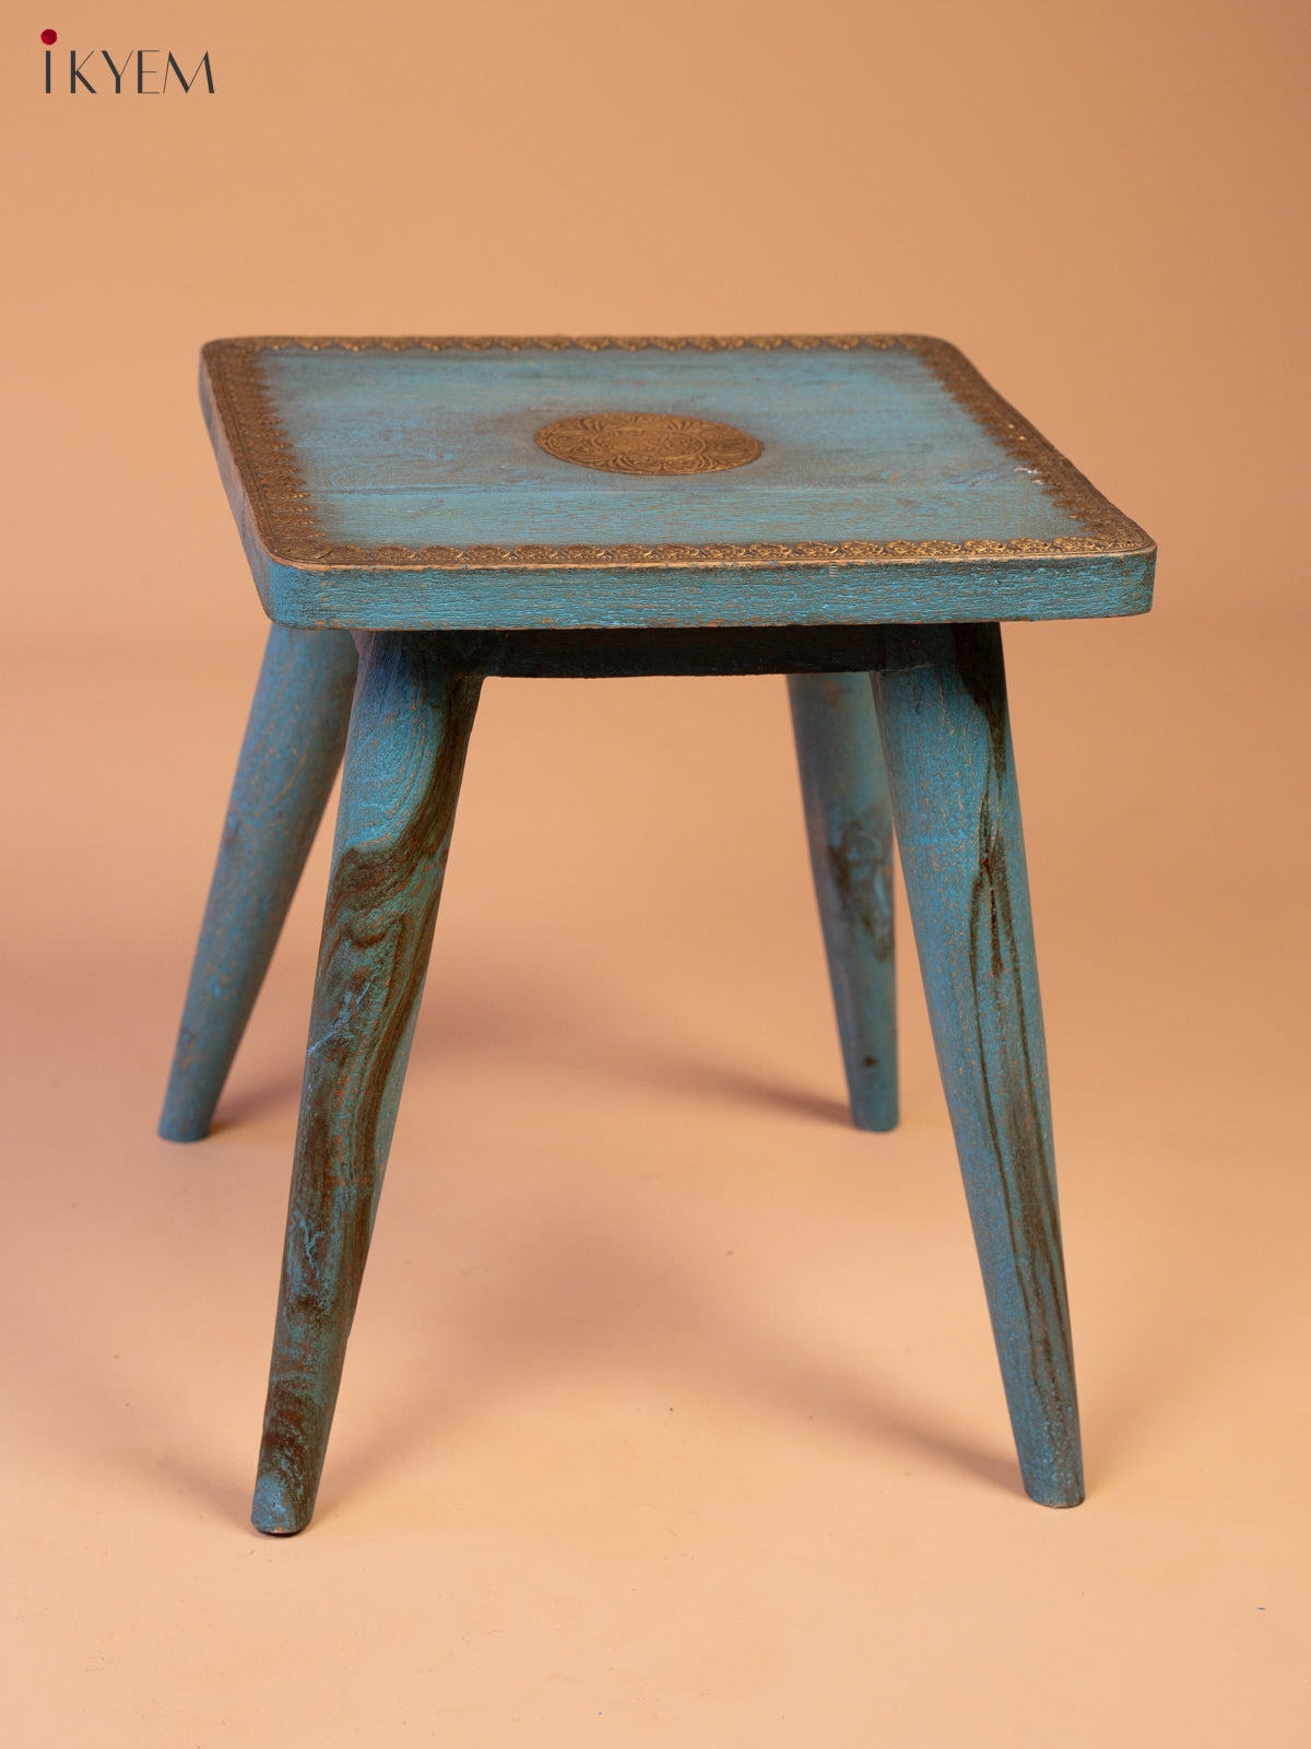
[[788, 698], [851, 1121], [895, 1130], [891, 812], [869, 677], [794, 673]]

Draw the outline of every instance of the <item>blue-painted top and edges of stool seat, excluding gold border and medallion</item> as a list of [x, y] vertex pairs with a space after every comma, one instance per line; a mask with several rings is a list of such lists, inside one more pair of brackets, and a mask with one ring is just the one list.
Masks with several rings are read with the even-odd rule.
[[[255, 525], [236, 441], [201, 392], [269, 617], [388, 630], [872, 624], [1141, 614], [1154, 551], [869, 563], [465, 568], [374, 546], [1016, 540], [1086, 530], [912, 352], [267, 348], [271, 399], [325, 540], [288, 560]], [[617, 476], [533, 442], [577, 411], [682, 409], [759, 436], [722, 474]], [[238, 442], [238, 449], [239, 449]]]

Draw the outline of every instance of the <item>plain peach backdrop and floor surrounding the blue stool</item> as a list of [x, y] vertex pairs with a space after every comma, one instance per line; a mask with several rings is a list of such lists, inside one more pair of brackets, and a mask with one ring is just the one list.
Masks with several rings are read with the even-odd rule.
[[[47, 24], [218, 93], [45, 98]], [[1306, 33], [10, 9], [7, 1740], [1306, 1742]], [[266, 1543], [323, 859], [218, 1132], [157, 1142], [262, 640], [196, 348], [806, 329], [949, 336], [1164, 553], [1150, 619], [1009, 633], [1089, 1501], [1019, 1494], [907, 929], [905, 1121], [843, 1121], [781, 682], [493, 682]]]

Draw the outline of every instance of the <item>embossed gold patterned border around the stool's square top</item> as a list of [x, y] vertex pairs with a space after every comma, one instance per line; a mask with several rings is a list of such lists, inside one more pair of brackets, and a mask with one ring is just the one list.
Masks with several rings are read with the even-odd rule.
[[[912, 352], [942, 383], [956, 404], [993, 442], [1030, 472], [1037, 484], [1086, 535], [1054, 540], [795, 540], [710, 546], [351, 546], [330, 540], [315, 521], [295, 449], [278, 420], [260, 366], [260, 353], [302, 352], [811, 352], [830, 346], [853, 352]], [[916, 560], [1077, 558], [1080, 554], [1147, 553], [1152, 539], [1115, 509], [1059, 449], [1005, 402], [974, 366], [947, 341], [925, 334], [743, 334], [743, 336], [252, 336], [217, 339], [205, 346], [205, 369], [215, 411], [232, 448], [241, 484], [250, 500], [260, 540], [273, 558], [311, 570], [561, 570], [642, 567], [771, 567], [872, 565]], [[561, 422], [568, 423], [568, 422]], [[708, 423], [708, 422], [706, 422]], [[547, 427], [551, 429], [551, 427]], [[724, 427], [731, 430], [732, 427]], [[745, 434], [741, 434], [745, 436]]]

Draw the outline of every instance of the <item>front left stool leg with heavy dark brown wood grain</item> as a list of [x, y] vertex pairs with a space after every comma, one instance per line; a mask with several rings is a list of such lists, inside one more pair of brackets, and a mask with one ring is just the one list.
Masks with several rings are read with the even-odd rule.
[[315, 1509], [479, 686], [423, 633], [360, 637], [252, 1511], [278, 1536]]

